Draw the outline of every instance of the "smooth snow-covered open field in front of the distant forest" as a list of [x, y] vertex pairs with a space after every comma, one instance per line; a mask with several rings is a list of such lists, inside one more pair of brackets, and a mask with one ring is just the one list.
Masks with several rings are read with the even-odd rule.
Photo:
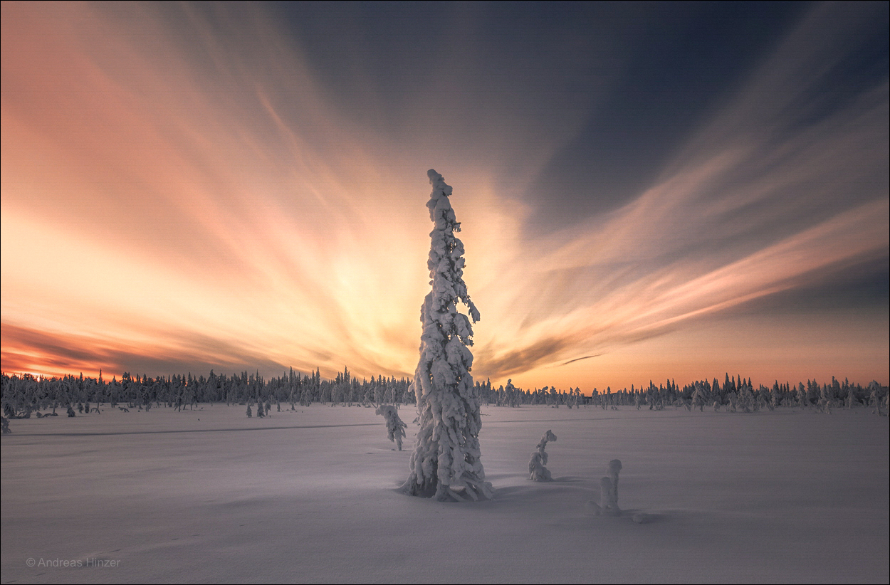
[[[244, 411], [11, 421], [2, 582], [890, 581], [888, 422], [863, 409], [483, 407], [479, 503], [396, 492], [417, 425], [400, 453], [370, 408]], [[587, 516], [614, 458], [626, 514]]]

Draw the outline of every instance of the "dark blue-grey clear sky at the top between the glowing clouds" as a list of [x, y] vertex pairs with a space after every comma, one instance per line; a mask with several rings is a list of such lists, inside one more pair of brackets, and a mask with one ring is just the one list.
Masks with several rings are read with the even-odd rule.
[[[519, 113], [517, 124], [558, 126], [561, 113], [574, 124], [579, 116], [574, 135], [519, 194], [538, 207], [534, 228], [549, 230], [651, 187], [813, 6], [284, 3], [274, 10], [330, 99], [376, 132], [415, 132], [407, 114], [473, 140], [504, 108]], [[886, 82], [887, 4], [846, 10], [870, 12], [868, 22], [783, 106], [776, 132], [799, 132]], [[431, 85], [459, 108], [425, 111], [438, 105], [426, 99]]]

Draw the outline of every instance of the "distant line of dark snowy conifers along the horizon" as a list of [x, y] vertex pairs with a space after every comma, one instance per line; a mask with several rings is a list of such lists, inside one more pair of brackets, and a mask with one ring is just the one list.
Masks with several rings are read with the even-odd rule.
[[[759, 385], [756, 389], [750, 378], [730, 377], [726, 374], [723, 384], [718, 380], [694, 381], [682, 389], [675, 381], [656, 386], [649, 382], [647, 388], [612, 391], [594, 389], [591, 396], [581, 394], [579, 388], [568, 392], [555, 387], [520, 389], [512, 381], [493, 388], [491, 381], [475, 384], [480, 402], [498, 406], [551, 405], [568, 407], [599, 406], [602, 408], [635, 406], [661, 410], [668, 406], [703, 409], [705, 406], [732, 411], [756, 411], [778, 406], [815, 407], [830, 409], [832, 406], [873, 405], [879, 407], [887, 401], [887, 388], [872, 382], [866, 388], [851, 384], [848, 380], [819, 384], [815, 380], [800, 382], [797, 386], [776, 381], [772, 387]], [[128, 408], [146, 408], [165, 405], [168, 408], [189, 408], [201, 403], [227, 405], [265, 404], [308, 406], [312, 403], [326, 405], [414, 404], [414, 390], [406, 378], [377, 376], [370, 380], [355, 378], [348, 369], [338, 373], [334, 380], [322, 380], [319, 370], [311, 374], [295, 373], [293, 369], [278, 378], [266, 380], [259, 373], [247, 372], [227, 376], [211, 371], [208, 377], [174, 375], [149, 378], [124, 373], [121, 380], [104, 380], [79, 376], [35, 377], [31, 374], [2, 374], [3, 413], [7, 418], [29, 417], [48, 409], [67, 409], [69, 416], [78, 413], [98, 412], [91, 404], [125, 405]]]

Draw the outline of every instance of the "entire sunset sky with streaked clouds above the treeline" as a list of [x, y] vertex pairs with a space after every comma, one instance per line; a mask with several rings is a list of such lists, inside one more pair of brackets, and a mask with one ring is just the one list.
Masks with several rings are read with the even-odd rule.
[[[171, 4], [171, 5], [167, 5]], [[2, 4], [2, 369], [890, 376], [888, 4]]]

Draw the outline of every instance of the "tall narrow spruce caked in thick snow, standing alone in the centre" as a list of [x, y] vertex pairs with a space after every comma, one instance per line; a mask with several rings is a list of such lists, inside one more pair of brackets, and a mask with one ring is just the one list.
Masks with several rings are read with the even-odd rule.
[[[479, 461], [482, 421], [470, 375], [473, 354], [467, 349], [473, 345], [470, 319], [478, 321], [479, 311], [466, 292], [464, 244], [454, 236], [460, 223], [449, 201], [451, 188], [438, 172], [426, 174], [433, 185], [426, 203], [434, 223], [426, 261], [433, 290], [420, 308], [424, 329], [412, 381], [420, 429], [402, 489], [439, 501], [490, 499], [494, 491]], [[457, 311], [458, 301], [466, 305], [469, 317]]]

